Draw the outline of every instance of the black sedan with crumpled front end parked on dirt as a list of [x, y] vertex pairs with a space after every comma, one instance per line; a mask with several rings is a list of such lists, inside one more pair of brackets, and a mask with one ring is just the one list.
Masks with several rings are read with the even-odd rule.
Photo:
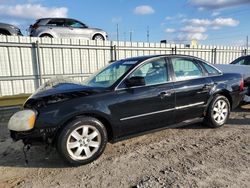
[[181, 55], [119, 60], [84, 83], [55, 79], [14, 114], [11, 137], [56, 146], [71, 164], [97, 159], [108, 141], [203, 121], [226, 123], [243, 97], [242, 76]]

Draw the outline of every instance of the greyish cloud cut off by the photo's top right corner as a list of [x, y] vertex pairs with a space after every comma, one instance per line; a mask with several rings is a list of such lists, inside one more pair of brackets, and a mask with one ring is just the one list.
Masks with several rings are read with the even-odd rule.
[[189, 0], [188, 2], [201, 9], [222, 9], [250, 4], [249, 0]]

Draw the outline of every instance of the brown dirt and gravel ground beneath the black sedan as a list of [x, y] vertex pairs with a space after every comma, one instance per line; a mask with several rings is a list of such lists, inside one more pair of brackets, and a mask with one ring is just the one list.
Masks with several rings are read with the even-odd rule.
[[[4, 126], [5, 124], [2, 124]], [[0, 187], [250, 187], [250, 104], [227, 125], [167, 129], [108, 144], [95, 162], [71, 168], [53, 151], [0, 139]]]

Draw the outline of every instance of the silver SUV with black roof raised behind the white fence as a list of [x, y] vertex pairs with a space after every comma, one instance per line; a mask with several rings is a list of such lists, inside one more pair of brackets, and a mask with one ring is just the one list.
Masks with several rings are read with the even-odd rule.
[[30, 36], [50, 38], [83, 38], [107, 40], [107, 33], [101, 29], [89, 28], [84, 23], [70, 18], [42, 18], [30, 26]]

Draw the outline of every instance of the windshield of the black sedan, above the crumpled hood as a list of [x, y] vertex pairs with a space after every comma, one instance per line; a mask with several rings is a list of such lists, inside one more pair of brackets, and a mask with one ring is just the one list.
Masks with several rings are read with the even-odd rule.
[[84, 84], [92, 87], [110, 87], [130, 70], [136, 62], [126, 60], [116, 61], [87, 78]]

